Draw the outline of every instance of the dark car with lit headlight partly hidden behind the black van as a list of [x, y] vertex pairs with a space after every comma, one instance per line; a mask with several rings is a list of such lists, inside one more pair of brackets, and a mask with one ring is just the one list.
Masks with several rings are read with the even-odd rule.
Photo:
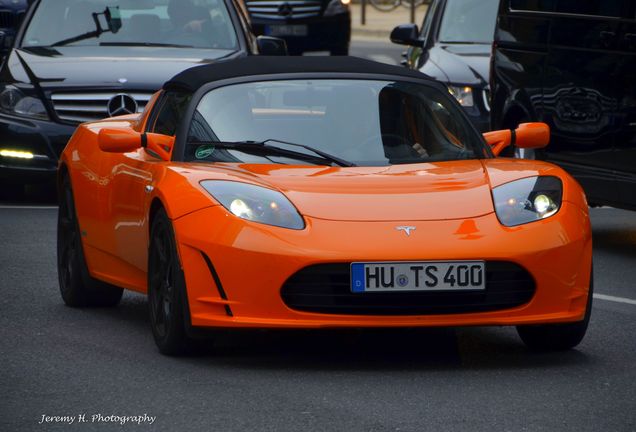
[[421, 31], [403, 24], [391, 41], [409, 45], [405, 65], [445, 83], [481, 132], [490, 130], [489, 69], [499, 0], [434, 0]]

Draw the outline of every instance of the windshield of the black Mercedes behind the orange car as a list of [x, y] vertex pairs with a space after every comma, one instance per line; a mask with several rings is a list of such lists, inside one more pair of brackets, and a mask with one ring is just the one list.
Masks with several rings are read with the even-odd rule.
[[[107, 8], [119, 15], [121, 27], [111, 26], [109, 30]], [[97, 22], [103, 33], [96, 31]], [[60, 45], [230, 50], [238, 43], [223, 0], [43, 0], [28, 25], [22, 46]]]

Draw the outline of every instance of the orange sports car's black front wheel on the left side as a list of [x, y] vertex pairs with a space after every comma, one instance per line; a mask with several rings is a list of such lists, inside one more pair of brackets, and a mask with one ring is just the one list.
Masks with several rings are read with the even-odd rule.
[[159, 209], [150, 231], [148, 303], [152, 334], [162, 354], [185, 354], [191, 347], [186, 334], [190, 317], [185, 293], [174, 230], [165, 210]]

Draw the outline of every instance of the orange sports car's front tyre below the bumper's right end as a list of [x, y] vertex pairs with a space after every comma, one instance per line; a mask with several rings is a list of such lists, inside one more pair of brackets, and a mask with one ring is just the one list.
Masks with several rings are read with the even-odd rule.
[[593, 274], [591, 274], [585, 317], [582, 321], [517, 326], [517, 333], [528, 348], [536, 351], [560, 351], [573, 348], [583, 340], [592, 314], [593, 280]]

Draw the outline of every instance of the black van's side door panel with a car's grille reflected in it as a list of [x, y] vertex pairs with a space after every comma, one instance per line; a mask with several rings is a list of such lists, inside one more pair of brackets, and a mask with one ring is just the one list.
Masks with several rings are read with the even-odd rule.
[[544, 121], [552, 137], [548, 159], [577, 177], [594, 201], [619, 200], [614, 139], [618, 33], [629, 0], [557, 0], [544, 72]]

